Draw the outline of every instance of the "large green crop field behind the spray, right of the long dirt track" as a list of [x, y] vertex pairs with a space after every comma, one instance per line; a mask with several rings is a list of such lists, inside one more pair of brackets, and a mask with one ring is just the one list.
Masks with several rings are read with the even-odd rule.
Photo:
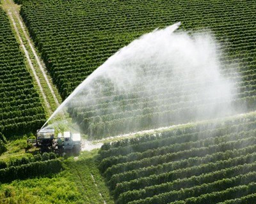
[[[117, 50], [156, 27], [180, 21], [181, 31], [209, 30], [214, 34], [223, 52], [222, 71], [236, 81], [234, 104], [255, 110], [255, 9], [253, 1], [24, 0], [20, 14], [63, 99]], [[156, 70], [148, 71], [156, 75]], [[84, 133], [102, 138], [188, 122], [196, 109], [207, 110], [200, 106], [205, 101], [182, 98], [195, 95], [198, 89], [164, 92], [166, 83], [160, 81], [151, 97], [141, 98], [143, 87], [134, 86], [134, 94], [127, 96], [106, 84], [106, 89], [93, 93], [99, 96], [96, 103], [71, 108], [70, 115]], [[184, 86], [191, 84], [184, 82]], [[161, 106], [155, 105], [159, 103], [156, 98], [161, 99]], [[182, 100], [184, 103], [179, 103]], [[208, 100], [211, 103], [212, 99]], [[111, 109], [116, 105], [120, 109]]]

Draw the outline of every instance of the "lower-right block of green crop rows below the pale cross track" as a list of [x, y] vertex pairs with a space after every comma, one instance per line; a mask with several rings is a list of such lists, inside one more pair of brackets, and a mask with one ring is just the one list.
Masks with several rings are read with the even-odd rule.
[[255, 121], [251, 113], [105, 143], [99, 169], [116, 203], [247, 199], [255, 193]]

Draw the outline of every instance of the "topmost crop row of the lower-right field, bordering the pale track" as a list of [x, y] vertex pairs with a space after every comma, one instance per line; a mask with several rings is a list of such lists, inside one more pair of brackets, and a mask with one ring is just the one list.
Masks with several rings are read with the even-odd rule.
[[[101, 159], [104, 159], [106, 157], [113, 157], [113, 156], [125, 156], [127, 157], [127, 154], [130, 154], [132, 152], [144, 152], [148, 149], [157, 149], [159, 147], [166, 146], [168, 144], [175, 144], [175, 143], [184, 143], [189, 141], [196, 141], [200, 139], [207, 139], [211, 137], [218, 137], [223, 135], [232, 135], [234, 133], [235, 135], [239, 133], [243, 133], [243, 131], [249, 131], [253, 132], [256, 127], [256, 122], [252, 120], [244, 120], [244, 122], [241, 122], [241, 124], [237, 125], [231, 125], [228, 126], [214, 126], [214, 124], [210, 124], [208, 129], [207, 126], [204, 125], [198, 125], [194, 128], [178, 128], [178, 129], [171, 129], [170, 131], [163, 131], [163, 133], [157, 133], [157, 135], [148, 135], [148, 136], [142, 136], [141, 138], [134, 139], [134, 141], [130, 144], [129, 140], [127, 143], [124, 143], [124, 146], [118, 146], [115, 147], [115, 145], [112, 146], [112, 148], [108, 150], [103, 149], [100, 150], [100, 157]], [[202, 128], [202, 131], [199, 131], [200, 128]], [[214, 129], [215, 128], [215, 129]], [[237, 133], [237, 134], [236, 134]], [[245, 133], [248, 135], [248, 133]], [[146, 137], [146, 140], [144, 140], [144, 137]], [[146, 153], [148, 154], [148, 152]], [[159, 152], [156, 152], [156, 154], [159, 154]], [[147, 157], [147, 156], [146, 156]], [[138, 157], [140, 159], [142, 157]], [[111, 159], [111, 158], [109, 158]], [[121, 158], [120, 158], [121, 159]], [[125, 158], [122, 158], [123, 160], [120, 160], [121, 162], [125, 161]], [[130, 159], [129, 159], [130, 160]], [[111, 160], [110, 160], [111, 161]], [[118, 161], [116, 161], [118, 163]], [[116, 163], [115, 162], [115, 163]], [[114, 164], [115, 164], [114, 163]]]

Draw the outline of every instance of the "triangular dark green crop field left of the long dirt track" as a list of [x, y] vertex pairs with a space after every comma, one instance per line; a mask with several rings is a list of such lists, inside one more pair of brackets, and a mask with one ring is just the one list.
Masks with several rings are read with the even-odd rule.
[[[2, 8], [0, 43], [0, 132], [5, 136], [14, 136], [36, 131], [42, 126], [45, 113]], [[0, 134], [1, 153], [4, 151], [3, 142]]]

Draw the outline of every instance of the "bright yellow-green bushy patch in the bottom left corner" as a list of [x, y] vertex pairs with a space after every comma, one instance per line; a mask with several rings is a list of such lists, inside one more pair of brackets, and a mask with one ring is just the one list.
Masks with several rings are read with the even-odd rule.
[[14, 180], [8, 184], [1, 184], [0, 200], [3, 204], [76, 204], [83, 201], [74, 180], [70, 178], [67, 171], [51, 176]]

